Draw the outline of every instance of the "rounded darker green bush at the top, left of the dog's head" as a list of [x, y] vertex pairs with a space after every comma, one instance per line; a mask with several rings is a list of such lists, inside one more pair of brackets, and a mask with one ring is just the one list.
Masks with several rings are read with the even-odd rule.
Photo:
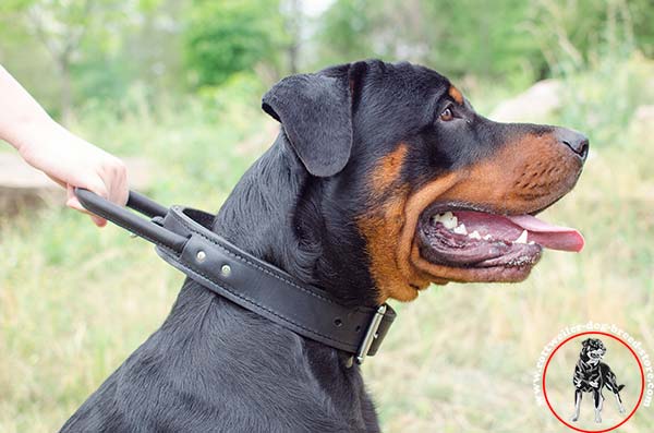
[[191, 84], [215, 86], [262, 62], [275, 64], [282, 39], [277, 1], [194, 1], [184, 31]]

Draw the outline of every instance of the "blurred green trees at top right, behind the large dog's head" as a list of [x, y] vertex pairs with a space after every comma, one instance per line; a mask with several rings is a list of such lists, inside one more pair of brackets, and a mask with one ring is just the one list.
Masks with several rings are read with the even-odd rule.
[[602, 50], [653, 53], [649, 0], [337, 0], [317, 33], [325, 65], [358, 58], [413, 60], [452, 79], [512, 87], [583, 69]]

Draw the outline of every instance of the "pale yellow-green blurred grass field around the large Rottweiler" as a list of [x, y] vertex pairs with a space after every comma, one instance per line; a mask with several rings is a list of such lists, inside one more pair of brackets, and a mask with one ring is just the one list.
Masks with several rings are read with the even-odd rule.
[[[364, 366], [385, 431], [568, 431], [536, 406], [531, 382], [543, 346], [571, 324], [615, 323], [654, 356], [654, 129], [631, 122], [635, 106], [625, 107], [615, 88], [594, 93], [603, 74], [610, 72], [570, 79], [581, 103], [552, 119], [588, 132], [594, 145], [578, 188], [546, 213], [579, 228], [586, 249], [547, 252], [523, 284], [451, 284], [397, 305], [384, 350]], [[217, 209], [276, 129], [256, 99], [229, 103], [219, 115], [192, 103], [155, 115], [140, 100], [120, 117], [90, 107], [75, 129], [113, 152], [155, 160], [161, 173], [148, 193], [164, 203]], [[159, 326], [182, 281], [145, 242], [57, 206], [2, 218], [0, 257], [5, 433], [57, 430]], [[589, 401], [582, 417], [591, 416]], [[653, 424], [654, 408], [643, 408], [620, 432]]]

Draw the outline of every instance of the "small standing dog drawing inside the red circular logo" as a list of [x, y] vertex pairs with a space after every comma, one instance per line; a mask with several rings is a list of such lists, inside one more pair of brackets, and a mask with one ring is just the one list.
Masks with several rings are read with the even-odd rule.
[[618, 402], [618, 410], [620, 413], [625, 413], [625, 406], [622, 406], [622, 398], [620, 397], [620, 390], [622, 390], [625, 385], [618, 385], [616, 375], [610, 370], [610, 366], [602, 362], [606, 353], [606, 347], [604, 347], [604, 344], [598, 338], [586, 338], [581, 342], [581, 346], [579, 361], [577, 361], [574, 376], [572, 377], [572, 384], [574, 385], [574, 414], [571, 421], [579, 419], [583, 393], [593, 393], [595, 422], [602, 422], [602, 405], [604, 402], [602, 389], [604, 387], [614, 393]]

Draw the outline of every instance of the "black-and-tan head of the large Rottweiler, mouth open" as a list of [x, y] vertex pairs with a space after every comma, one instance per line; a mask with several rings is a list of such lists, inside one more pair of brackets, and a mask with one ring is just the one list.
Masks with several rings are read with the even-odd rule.
[[534, 215], [573, 188], [588, 140], [491, 121], [435, 71], [364, 61], [293, 75], [263, 108], [307, 172], [300, 243], [319, 245], [317, 279], [341, 296], [374, 287], [377, 302], [407, 301], [429, 282], [520, 281], [543, 248], [583, 245]]

